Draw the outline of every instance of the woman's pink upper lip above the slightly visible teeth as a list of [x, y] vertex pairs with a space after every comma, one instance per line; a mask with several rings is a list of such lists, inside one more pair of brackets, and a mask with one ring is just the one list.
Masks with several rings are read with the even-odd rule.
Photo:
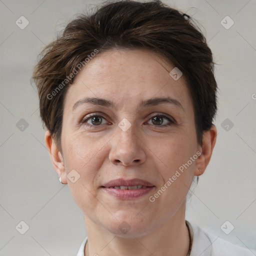
[[[139, 178], [133, 178], [133, 179], [123, 179], [123, 178], [118, 178], [118, 179], [112, 179], [105, 184], [102, 185], [102, 187], [120, 187], [120, 186], [154, 186], [152, 183], [139, 179]], [[128, 189], [128, 188], [127, 188]]]

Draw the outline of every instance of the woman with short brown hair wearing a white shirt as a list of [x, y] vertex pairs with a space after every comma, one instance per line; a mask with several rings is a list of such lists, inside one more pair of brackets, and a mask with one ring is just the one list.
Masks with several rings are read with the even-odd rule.
[[84, 214], [82, 255], [251, 255], [185, 220], [216, 141], [211, 50], [160, 1], [79, 15], [34, 69], [45, 144]]

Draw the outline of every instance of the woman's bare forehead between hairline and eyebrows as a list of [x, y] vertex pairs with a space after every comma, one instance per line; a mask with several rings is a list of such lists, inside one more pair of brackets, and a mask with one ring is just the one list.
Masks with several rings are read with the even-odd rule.
[[70, 108], [82, 96], [91, 96], [110, 99], [121, 108], [125, 104], [139, 104], [141, 99], [170, 96], [184, 108], [189, 107], [191, 101], [185, 77], [181, 75], [174, 80], [169, 74], [174, 67], [161, 55], [146, 49], [99, 52], [69, 85], [64, 105]]

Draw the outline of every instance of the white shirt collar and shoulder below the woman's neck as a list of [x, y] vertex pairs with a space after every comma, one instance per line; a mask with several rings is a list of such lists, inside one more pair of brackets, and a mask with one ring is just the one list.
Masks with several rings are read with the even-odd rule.
[[[190, 222], [189, 222], [190, 223]], [[191, 230], [192, 229], [192, 230]], [[255, 256], [256, 251], [232, 244], [220, 237], [207, 232], [200, 226], [190, 223], [192, 234], [192, 248], [190, 256]], [[83, 240], [77, 256], [84, 256], [84, 246], [87, 236]]]

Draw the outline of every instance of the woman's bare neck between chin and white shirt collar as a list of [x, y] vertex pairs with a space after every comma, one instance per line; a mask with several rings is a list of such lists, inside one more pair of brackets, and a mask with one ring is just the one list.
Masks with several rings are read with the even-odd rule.
[[85, 256], [186, 256], [188, 252], [189, 232], [185, 224], [185, 201], [171, 218], [141, 236], [118, 236], [95, 224], [86, 215], [84, 222], [87, 233]]

